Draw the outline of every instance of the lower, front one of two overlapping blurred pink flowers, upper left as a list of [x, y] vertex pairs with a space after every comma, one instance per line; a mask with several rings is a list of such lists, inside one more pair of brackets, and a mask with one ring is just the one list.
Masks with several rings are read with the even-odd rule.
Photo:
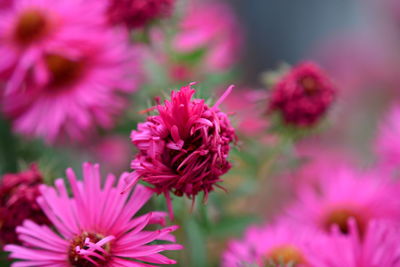
[[3, 112], [15, 132], [54, 143], [84, 141], [96, 126], [113, 127], [140, 73], [125, 34], [87, 32], [86, 39], [59, 42], [36, 59], [21, 90], [6, 94]]

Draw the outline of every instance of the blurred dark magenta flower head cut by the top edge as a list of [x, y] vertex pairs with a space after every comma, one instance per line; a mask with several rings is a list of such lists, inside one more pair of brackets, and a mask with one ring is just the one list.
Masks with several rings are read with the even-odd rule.
[[111, 23], [122, 23], [129, 28], [143, 27], [156, 18], [168, 16], [175, 0], [108, 0]]

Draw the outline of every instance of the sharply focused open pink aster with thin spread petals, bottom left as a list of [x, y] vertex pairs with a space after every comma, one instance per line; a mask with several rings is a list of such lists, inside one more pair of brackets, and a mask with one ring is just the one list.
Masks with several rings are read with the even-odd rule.
[[121, 195], [122, 174], [117, 186], [115, 176], [108, 175], [101, 186], [99, 165], [84, 164], [84, 180], [77, 181], [75, 173], [67, 170], [73, 197], [63, 179], [55, 188], [42, 186], [38, 203], [55, 230], [27, 220], [17, 228], [23, 246], [7, 245], [10, 257], [22, 261], [18, 266], [54, 267], [120, 267], [174, 264], [159, 254], [164, 250], [181, 249], [177, 244], [149, 244], [153, 241], [175, 242], [170, 234], [177, 227], [143, 230], [150, 224], [163, 224], [163, 212], [150, 212], [133, 217], [152, 196], [151, 190], [138, 185], [130, 194]]

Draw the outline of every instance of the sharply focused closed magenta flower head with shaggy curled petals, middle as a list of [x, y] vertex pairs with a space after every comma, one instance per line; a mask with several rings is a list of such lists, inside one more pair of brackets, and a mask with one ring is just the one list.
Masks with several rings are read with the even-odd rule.
[[171, 217], [169, 192], [193, 201], [204, 192], [207, 200], [214, 186], [220, 187], [221, 175], [231, 168], [227, 158], [236, 139], [228, 116], [218, 109], [232, 86], [209, 107], [203, 99], [192, 99], [193, 84], [172, 91], [171, 100], [155, 107], [158, 115], [149, 116], [131, 133], [139, 153], [131, 163], [134, 172], [128, 183], [141, 178], [158, 194], [164, 193]]

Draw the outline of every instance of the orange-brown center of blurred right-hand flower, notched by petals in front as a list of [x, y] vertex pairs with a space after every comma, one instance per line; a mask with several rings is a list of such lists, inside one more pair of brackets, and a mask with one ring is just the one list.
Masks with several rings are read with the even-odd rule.
[[349, 218], [354, 218], [357, 229], [362, 235], [366, 226], [365, 220], [355, 211], [349, 209], [337, 209], [329, 213], [324, 221], [324, 228], [330, 231], [331, 226], [336, 224], [339, 227], [340, 232], [348, 234], [350, 232], [348, 223]]

